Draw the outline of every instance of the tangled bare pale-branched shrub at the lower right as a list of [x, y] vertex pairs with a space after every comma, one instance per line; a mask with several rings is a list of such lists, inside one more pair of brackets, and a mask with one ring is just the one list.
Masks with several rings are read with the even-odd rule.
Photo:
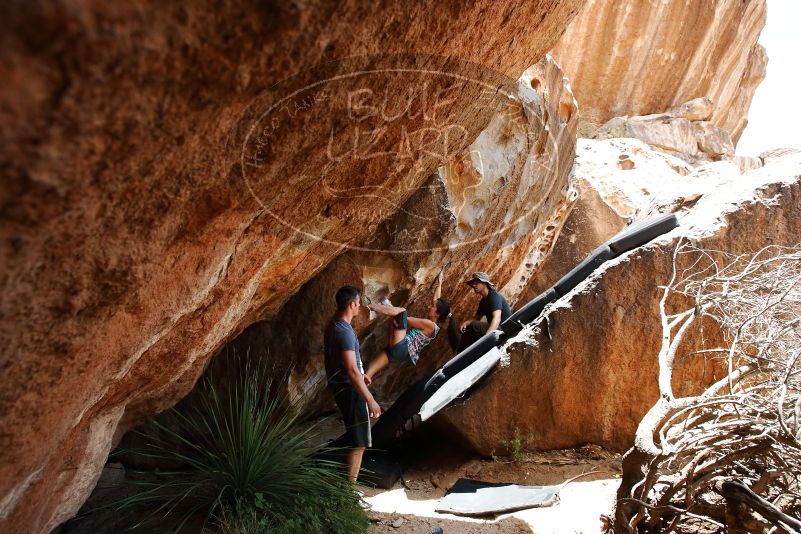
[[[801, 248], [680, 243], [660, 315], [660, 398], [624, 456], [615, 531], [801, 530]], [[681, 357], [722, 358], [726, 376], [676, 397], [679, 346], [707, 320], [724, 342]]]

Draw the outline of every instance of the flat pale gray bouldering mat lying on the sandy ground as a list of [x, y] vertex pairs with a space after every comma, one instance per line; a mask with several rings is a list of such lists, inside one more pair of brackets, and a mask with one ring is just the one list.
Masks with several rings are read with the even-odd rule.
[[541, 508], [559, 500], [559, 489], [559, 486], [521, 486], [462, 478], [439, 500], [436, 511], [485, 516]]

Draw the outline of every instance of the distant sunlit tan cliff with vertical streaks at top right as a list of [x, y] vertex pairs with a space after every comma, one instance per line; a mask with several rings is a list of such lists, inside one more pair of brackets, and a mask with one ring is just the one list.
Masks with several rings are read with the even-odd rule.
[[765, 0], [589, 0], [552, 51], [581, 104], [580, 133], [707, 96], [736, 144], [765, 77], [765, 16]]

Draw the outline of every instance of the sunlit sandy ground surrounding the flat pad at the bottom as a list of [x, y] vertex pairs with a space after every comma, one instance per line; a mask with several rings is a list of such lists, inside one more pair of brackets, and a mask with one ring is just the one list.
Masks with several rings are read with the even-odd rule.
[[[485, 482], [559, 485], [567, 483], [557, 504], [473, 519], [435, 512], [438, 500], [459, 478]], [[371, 533], [603, 532], [602, 516], [611, 512], [620, 484], [620, 457], [600, 448], [526, 454], [517, 462], [469, 458], [464, 453], [443, 451], [404, 474], [403, 482], [390, 490], [363, 488], [372, 506]]]

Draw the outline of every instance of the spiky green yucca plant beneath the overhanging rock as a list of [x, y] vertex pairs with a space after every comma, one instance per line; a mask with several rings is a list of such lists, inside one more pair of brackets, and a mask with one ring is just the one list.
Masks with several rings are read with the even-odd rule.
[[[207, 377], [182, 410], [152, 424], [148, 445], [127, 451], [180, 469], [137, 474], [117, 509], [144, 508], [148, 520], [174, 514], [225, 532], [364, 532], [359, 496], [338, 464], [319, 460], [313, 427], [299, 429], [286, 395], [249, 366], [230, 388]], [[210, 521], [212, 520], [212, 521]]]

